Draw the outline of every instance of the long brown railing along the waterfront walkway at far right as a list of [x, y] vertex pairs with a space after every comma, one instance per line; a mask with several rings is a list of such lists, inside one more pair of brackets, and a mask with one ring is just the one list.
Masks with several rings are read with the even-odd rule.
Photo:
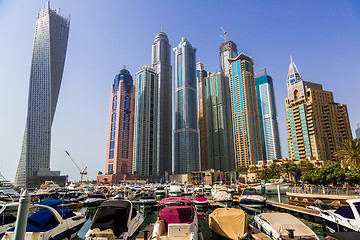
[[287, 192], [319, 195], [360, 195], [359, 188], [325, 186], [290, 186]]

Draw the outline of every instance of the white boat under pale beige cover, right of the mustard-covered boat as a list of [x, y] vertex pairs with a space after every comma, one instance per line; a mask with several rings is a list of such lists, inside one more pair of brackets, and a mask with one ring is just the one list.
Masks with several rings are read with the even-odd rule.
[[271, 239], [319, 240], [316, 234], [289, 213], [261, 213], [254, 217], [254, 225]]

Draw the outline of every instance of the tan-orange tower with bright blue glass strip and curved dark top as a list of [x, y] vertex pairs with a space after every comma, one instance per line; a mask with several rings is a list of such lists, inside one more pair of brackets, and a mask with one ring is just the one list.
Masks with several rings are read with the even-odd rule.
[[248, 167], [263, 158], [254, 62], [243, 53], [229, 62], [235, 167]]

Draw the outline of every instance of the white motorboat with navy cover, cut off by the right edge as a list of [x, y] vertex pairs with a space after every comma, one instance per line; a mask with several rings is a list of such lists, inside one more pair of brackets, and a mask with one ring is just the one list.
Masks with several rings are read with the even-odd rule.
[[360, 232], [360, 199], [348, 199], [349, 206], [338, 209], [320, 210], [319, 216], [324, 220], [330, 232]]

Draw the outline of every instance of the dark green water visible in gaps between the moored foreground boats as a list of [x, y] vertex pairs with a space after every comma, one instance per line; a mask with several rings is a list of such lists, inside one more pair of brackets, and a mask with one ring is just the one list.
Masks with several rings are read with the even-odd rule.
[[[277, 195], [268, 195], [266, 196], [268, 200], [271, 201], [278, 201], [278, 196]], [[158, 200], [158, 199], [157, 199]], [[286, 195], [281, 195], [281, 202], [283, 203], [288, 203], [288, 199], [286, 197]], [[234, 208], [239, 208], [238, 205], [233, 206]], [[264, 209], [246, 209], [246, 208], [242, 208], [245, 212], [247, 212], [248, 217], [249, 217], [249, 223], [251, 224], [253, 222], [254, 216], [255, 214], [261, 213], [261, 212], [269, 212], [271, 210], [268, 210], [266, 208]], [[211, 231], [209, 229], [209, 214], [212, 213], [213, 210], [209, 209], [207, 212], [198, 212], [198, 219], [199, 219], [199, 225], [200, 225], [200, 229], [201, 232], [203, 233], [204, 239], [211, 239], [210, 235], [211, 235]], [[95, 210], [91, 210], [90, 211], [90, 218], [88, 219], [88, 221], [84, 224], [84, 226], [80, 229], [79, 233], [78, 233], [78, 238], [77, 239], [84, 239], [86, 232], [89, 230], [90, 225], [91, 225], [91, 220], [95, 214]], [[144, 210], [143, 211], [143, 215], [145, 217], [144, 223], [142, 224], [140, 229], [143, 229], [145, 226], [147, 226], [150, 223], [154, 223], [156, 221], [157, 215], [158, 215], [158, 211], [156, 208], [152, 209], [152, 210]], [[313, 223], [310, 222], [306, 219], [302, 219], [299, 218], [301, 221], [303, 221], [307, 226], [309, 226], [319, 237], [320, 239], [324, 239], [323, 235], [324, 232], [322, 230], [322, 226], [321, 224], [318, 223]], [[215, 236], [213, 236], [212, 239], [216, 239]]]

